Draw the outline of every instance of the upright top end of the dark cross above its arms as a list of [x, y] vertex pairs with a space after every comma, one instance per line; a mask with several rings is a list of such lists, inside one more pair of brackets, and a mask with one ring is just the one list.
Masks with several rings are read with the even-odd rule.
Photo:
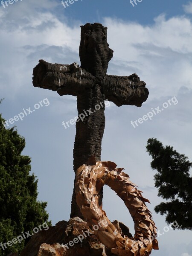
[[107, 29], [100, 23], [87, 23], [81, 26], [81, 67], [99, 80], [105, 77], [108, 63], [113, 57], [113, 50], [107, 42]]

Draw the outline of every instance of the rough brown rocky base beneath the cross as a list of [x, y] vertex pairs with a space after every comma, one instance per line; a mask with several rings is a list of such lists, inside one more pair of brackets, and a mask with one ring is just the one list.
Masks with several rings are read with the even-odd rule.
[[[18, 256], [11, 253], [9, 256]], [[96, 236], [86, 221], [71, 218], [32, 236], [20, 256], [114, 256]]]

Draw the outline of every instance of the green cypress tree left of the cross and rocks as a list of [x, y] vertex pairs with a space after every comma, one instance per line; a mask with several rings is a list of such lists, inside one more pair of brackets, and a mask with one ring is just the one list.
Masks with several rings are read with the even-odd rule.
[[[28, 231], [32, 234], [34, 227], [45, 222], [51, 225], [45, 210], [47, 202], [37, 201], [38, 180], [30, 174], [31, 159], [21, 155], [25, 139], [15, 128], [6, 129], [4, 122], [0, 114], [0, 243]], [[6, 245], [7, 249], [0, 246], [0, 256], [20, 252], [29, 239]]]

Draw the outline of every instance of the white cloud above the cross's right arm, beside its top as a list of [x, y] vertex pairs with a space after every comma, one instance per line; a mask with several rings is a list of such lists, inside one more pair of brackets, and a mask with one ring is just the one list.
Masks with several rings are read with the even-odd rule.
[[[191, 87], [192, 23], [186, 17], [166, 20], [160, 15], [151, 26], [105, 19], [114, 57], [109, 73], [137, 73], [147, 83], [150, 99]], [[123, 38], [123, 40], [122, 40]], [[112, 69], [111, 69], [112, 67]]]

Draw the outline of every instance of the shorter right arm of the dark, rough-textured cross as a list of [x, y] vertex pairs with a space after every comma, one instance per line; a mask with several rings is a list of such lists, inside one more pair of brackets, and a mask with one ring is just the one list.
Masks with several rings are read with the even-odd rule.
[[122, 105], [135, 105], [141, 107], [148, 98], [148, 89], [139, 76], [105, 76], [102, 88], [105, 99], [113, 102], [118, 107]]

